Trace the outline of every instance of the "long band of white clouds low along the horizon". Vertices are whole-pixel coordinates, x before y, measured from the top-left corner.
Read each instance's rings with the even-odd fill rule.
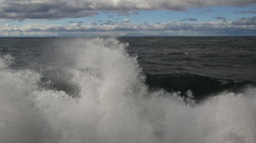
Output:
[[[131,35],[254,35],[256,25],[234,24],[227,22],[165,22],[154,24],[134,24],[105,22],[105,24],[83,24],[69,23],[62,24],[43,24],[28,23],[23,26],[0,26],[0,36],[11,35],[33,35],[33,36],[131,36]]]

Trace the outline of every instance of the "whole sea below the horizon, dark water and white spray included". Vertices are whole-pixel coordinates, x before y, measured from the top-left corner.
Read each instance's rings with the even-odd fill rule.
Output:
[[[0,38],[0,142],[256,142],[256,36]]]

